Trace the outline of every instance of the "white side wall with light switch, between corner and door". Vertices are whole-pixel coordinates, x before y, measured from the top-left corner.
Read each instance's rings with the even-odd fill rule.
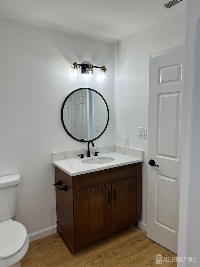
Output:
[[[150,26],[116,45],[115,143],[144,150],[142,170],[142,223],[147,222],[147,145],[138,138],[138,127],[148,127],[150,55],[185,43],[186,12]],[[130,26],[131,27],[131,26]],[[148,136],[148,131],[147,131]]]

